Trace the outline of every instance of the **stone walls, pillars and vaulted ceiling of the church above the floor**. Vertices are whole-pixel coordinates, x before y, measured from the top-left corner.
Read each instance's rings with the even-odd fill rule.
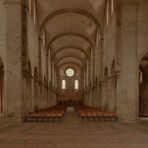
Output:
[[[0,121],[56,104],[148,117],[147,18],[147,0],[1,0]]]

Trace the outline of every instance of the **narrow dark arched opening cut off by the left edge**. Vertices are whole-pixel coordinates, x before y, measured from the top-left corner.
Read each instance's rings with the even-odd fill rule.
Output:
[[[4,113],[4,66],[0,59],[0,114]]]

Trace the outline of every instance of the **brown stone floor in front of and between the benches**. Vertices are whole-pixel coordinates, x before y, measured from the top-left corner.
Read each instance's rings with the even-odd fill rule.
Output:
[[[82,121],[69,110],[61,122],[1,126],[0,148],[148,148],[148,122]]]

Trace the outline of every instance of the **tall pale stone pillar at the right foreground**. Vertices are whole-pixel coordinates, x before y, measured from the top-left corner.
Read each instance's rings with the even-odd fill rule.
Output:
[[[120,88],[118,116],[123,122],[138,120],[137,1],[121,1]]]

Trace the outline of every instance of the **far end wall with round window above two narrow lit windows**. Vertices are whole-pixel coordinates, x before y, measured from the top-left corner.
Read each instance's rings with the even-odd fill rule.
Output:
[[[83,102],[83,82],[81,68],[75,64],[64,64],[58,70],[58,104],[74,106]]]

